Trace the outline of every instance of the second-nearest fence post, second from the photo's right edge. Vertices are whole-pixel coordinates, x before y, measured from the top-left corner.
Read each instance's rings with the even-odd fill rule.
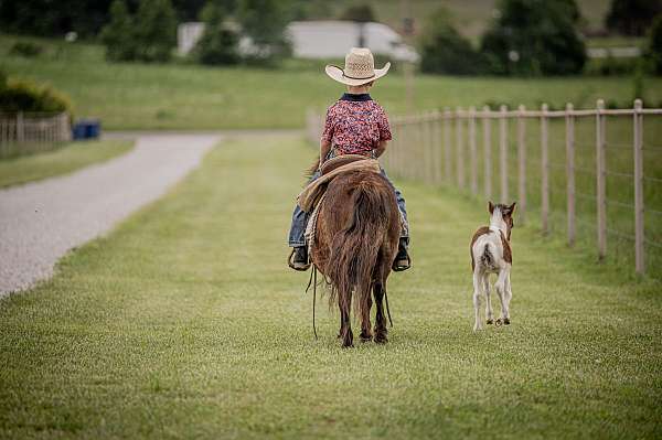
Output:
[[[598,217],[598,258],[601,260],[607,255],[607,185],[606,185],[606,158],[605,158],[605,101],[598,100],[596,114],[596,214]]]

